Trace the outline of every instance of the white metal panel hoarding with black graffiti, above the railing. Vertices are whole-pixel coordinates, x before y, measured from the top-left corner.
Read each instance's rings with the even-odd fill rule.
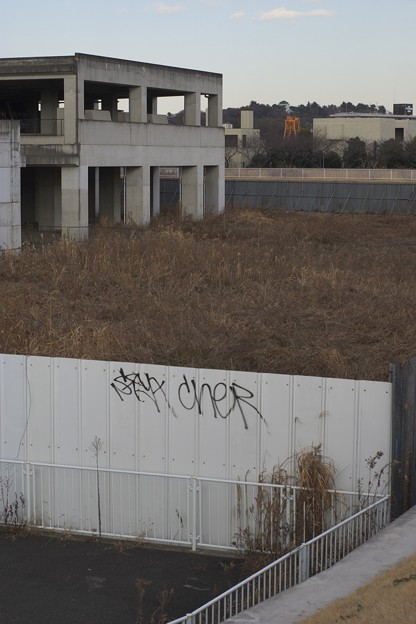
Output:
[[[322,444],[338,489],[390,460],[391,385],[2,355],[0,459],[255,481]],[[290,467],[290,462],[287,464]]]

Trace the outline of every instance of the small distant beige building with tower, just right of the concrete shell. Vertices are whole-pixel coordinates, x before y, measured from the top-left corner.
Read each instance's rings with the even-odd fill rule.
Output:
[[[258,148],[260,130],[254,128],[253,111],[241,111],[240,128],[225,128],[225,161],[227,167],[247,167]]]

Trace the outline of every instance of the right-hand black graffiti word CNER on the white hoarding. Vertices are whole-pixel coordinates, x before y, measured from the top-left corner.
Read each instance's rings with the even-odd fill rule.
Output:
[[[224,411],[222,402],[226,401],[229,392],[231,394],[230,406],[228,410]],[[214,418],[220,417],[226,419],[237,407],[241,418],[243,419],[244,429],[248,429],[246,418],[247,408],[254,411],[254,413],[263,419],[263,416],[257,407],[250,402],[250,399],[254,397],[254,394],[251,390],[248,390],[248,388],[244,388],[235,382],[229,386],[227,386],[224,382],[219,382],[214,387],[211,387],[210,384],[204,383],[198,390],[195,379],[191,379],[191,382],[189,383],[186,375],[183,376],[183,382],[178,388],[178,398],[184,409],[192,410],[195,406],[197,406],[198,414],[202,415],[202,401],[204,393],[208,395],[208,401],[210,402]]]

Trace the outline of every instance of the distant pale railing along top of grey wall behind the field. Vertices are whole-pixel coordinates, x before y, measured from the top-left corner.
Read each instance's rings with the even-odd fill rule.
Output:
[[[278,180],[360,180],[416,182],[416,169],[292,169],[292,168],[226,168],[226,179]]]

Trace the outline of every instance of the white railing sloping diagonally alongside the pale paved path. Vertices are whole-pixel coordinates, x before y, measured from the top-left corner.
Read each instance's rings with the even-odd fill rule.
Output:
[[[384,528],[389,497],[302,544],[217,598],[169,624],[220,624],[234,615],[327,570]]]

